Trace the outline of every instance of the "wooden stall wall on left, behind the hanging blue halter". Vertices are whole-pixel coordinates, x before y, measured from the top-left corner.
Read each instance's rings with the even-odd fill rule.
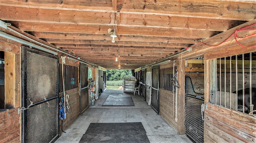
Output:
[[[61,62],[61,59],[59,61]],[[70,60],[67,60],[67,59],[66,59],[66,65],[71,65],[71,66],[78,67],[78,65],[75,65],[74,61],[70,61]],[[78,70],[78,72],[79,72],[79,70]],[[76,80],[78,80],[77,82],[78,82],[78,85],[79,85],[79,74],[78,74],[78,78]],[[62,133],[62,129],[63,129],[63,131],[65,131],[65,129],[67,129],[67,127],[70,124],[72,124],[75,121],[76,118],[78,118],[79,112],[80,112],[79,86],[77,88],[67,90],[67,91],[65,91],[65,93],[69,95],[68,104],[70,106],[70,109],[67,110],[66,119],[64,119],[64,120],[59,119],[60,133]],[[60,92],[60,95],[61,94],[62,94],[62,92]]]

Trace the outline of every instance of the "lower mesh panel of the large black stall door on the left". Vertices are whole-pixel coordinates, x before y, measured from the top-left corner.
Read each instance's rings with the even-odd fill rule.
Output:
[[[58,133],[57,98],[27,109],[27,142],[49,143]]]

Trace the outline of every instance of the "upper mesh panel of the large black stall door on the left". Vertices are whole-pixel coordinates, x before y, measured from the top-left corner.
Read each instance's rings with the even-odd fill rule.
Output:
[[[57,94],[58,70],[52,60],[36,53],[27,53],[27,99],[33,103],[52,98]],[[30,104],[29,100],[27,104]]]

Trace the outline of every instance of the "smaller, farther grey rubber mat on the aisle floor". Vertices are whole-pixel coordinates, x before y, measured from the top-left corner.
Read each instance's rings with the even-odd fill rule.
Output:
[[[134,106],[130,95],[109,95],[102,106]]]

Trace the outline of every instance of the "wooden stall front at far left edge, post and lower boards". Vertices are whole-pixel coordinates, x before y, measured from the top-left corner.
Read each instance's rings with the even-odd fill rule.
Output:
[[[0,110],[0,143],[20,142],[20,55],[16,54],[20,51],[16,45],[3,41],[0,50],[9,51],[5,52],[5,109]]]

